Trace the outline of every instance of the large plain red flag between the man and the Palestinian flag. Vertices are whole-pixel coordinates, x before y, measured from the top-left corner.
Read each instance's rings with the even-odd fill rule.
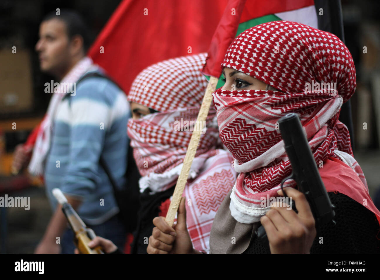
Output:
[[[128,93],[133,79],[145,67],[207,51],[227,2],[124,0],[98,35],[89,56]]]

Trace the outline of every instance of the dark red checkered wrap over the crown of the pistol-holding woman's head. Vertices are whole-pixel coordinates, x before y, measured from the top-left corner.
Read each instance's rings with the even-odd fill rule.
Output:
[[[289,94],[304,91],[312,80],[336,82],[345,102],[356,87],[355,65],[344,43],[329,32],[290,21],[245,30],[228,48],[222,67]]]

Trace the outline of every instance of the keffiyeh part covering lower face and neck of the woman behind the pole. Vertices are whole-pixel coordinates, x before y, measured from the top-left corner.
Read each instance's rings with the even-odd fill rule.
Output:
[[[140,191],[149,187],[152,192],[169,189],[177,181],[182,169],[192,131],[182,123],[195,122],[199,107],[182,108],[163,113],[146,115],[128,122],[133,155],[142,178]],[[217,123],[212,122],[215,109],[209,115],[199,146],[190,169],[190,178],[195,178],[204,161],[215,154],[218,138]]]

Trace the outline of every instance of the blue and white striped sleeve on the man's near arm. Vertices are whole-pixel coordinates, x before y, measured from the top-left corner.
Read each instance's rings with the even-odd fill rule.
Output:
[[[82,198],[93,192],[100,182],[97,171],[107,128],[115,115],[127,114],[123,112],[127,105],[115,109],[117,96],[121,95],[115,90],[119,92],[104,79],[89,78],[78,86],[76,96],[70,97],[70,163],[61,185],[62,192]]]

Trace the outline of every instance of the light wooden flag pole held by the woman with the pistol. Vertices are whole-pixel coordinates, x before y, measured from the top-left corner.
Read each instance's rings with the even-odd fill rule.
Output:
[[[211,94],[215,91],[217,82],[218,82],[218,78],[211,76],[206,88],[206,92],[204,93],[201,109],[199,109],[198,117],[196,118],[195,127],[197,129],[193,130],[193,134],[191,136],[189,146],[187,147],[187,152],[184,159],[184,165],[182,166],[181,173],[179,174],[177,184],[174,189],[173,199],[171,200],[168,214],[166,214],[165,220],[169,224],[169,226],[173,226],[174,218],[176,217],[178,206],[181,201],[182,194],[186,186],[187,178],[190,173],[190,167],[193,163],[196,149],[198,148],[199,139],[201,138],[203,124],[206,123],[205,121],[206,121],[207,115],[209,114],[211,101],[212,101]]]

